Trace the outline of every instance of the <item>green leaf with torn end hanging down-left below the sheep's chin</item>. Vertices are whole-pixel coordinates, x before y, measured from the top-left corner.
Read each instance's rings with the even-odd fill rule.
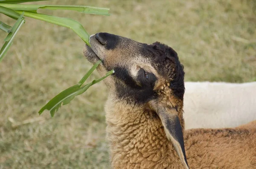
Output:
[[[92,82],[90,82],[87,85],[84,85],[82,87],[80,87],[79,84],[69,87],[68,89],[62,91],[57,96],[55,96],[53,99],[51,99],[44,107],[41,108],[41,110],[39,110],[38,113],[42,114],[44,110],[49,110],[51,116],[53,117],[55,112],[57,112],[62,105],[70,103],[70,101],[72,101],[75,98],[75,96],[81,95],[90,86],[102,81],[103,79],[105,79],[106,77],[110,76],[113,73],[114,73],[114,70],[111,70],[108,73],[106,73],[106,76],[104,76],[100,79],[97,79],[97,80],[93,80]]]

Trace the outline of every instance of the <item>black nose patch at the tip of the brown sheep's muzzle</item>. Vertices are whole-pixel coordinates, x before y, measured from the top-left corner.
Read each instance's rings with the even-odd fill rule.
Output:
[[[95,35],[96,39],[105,46],[107,50],[116,48],[119,43],[119,36],[101,32]]]

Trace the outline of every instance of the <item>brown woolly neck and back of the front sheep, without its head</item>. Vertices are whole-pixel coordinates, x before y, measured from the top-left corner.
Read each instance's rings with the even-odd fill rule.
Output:
[[[183,169],[163,124],[150,110],[106,104],[107,140],[114,169]],[[190,169],[256,169],[256,125],[184,132]]]

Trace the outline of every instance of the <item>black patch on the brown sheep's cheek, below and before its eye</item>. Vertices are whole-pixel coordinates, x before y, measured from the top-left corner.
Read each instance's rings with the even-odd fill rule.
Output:
[[[126,68],[116,67],[114,70],[115,73],[113,76],[125,84],[116,82],[116,92],[119,98],[126,99],[127,101],[133,101],[135,104],[145,103],[155,98],[156,93],[153,91],[153,87],[156,77],[154,74],[149,73],[152,80],[150,82],[146,82],[143,69],[141,69],[138,72],[136,79],[139,82],[138,83],[131,77]]]

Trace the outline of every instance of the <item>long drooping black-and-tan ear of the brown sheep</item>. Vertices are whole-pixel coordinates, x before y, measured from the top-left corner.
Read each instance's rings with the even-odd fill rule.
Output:
[[[185,168],[189,169],[186,160],[182,128],[177,111],[175,108],[159,107],[157,114],[162,121],[167,138],[172,142]]]

